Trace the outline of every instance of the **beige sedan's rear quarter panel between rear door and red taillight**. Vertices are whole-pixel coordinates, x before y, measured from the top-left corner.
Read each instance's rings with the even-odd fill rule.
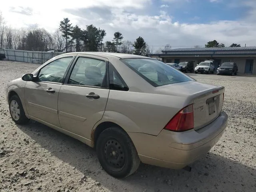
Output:
[[[186,103],[186,97],[110,90],[102,121],[126,132],[158,135]]]

